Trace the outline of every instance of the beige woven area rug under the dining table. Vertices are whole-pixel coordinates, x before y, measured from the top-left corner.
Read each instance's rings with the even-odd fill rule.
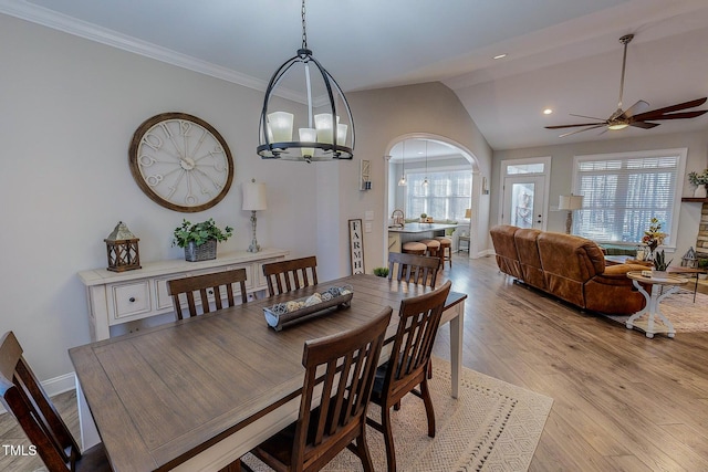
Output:
[[[525,471],[551,411],[553,399],[464,368],[458,399],[450,397],[450,365],[433,359],[429,381],[435,407],[436,437],[428,438],[423,400],[408,395],[392,411],[396,463],[399,471]],[[381,409],[369,408],[378,420]],[[368,428],[367,443],[375,471],[386,470],[383,436]],[[254,471],[270,471],[251,455]],[[361,471],[356,455],[344,450],[325,469]]]

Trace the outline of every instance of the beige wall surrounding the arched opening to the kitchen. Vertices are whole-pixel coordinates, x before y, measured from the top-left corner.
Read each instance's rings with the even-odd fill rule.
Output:
[[[388,199],[385,188],[388,182],[388,161],[385,154],[396,137],[421,134],[438,135],[459,143],[473,154],[481,175],[491,174],[491,148],[479,133],[457,95],[441,83],[426,83],[392,88],[378,88],[347,94],[352,114],[356,123],[356,150],[354,166],[340,168],[340,199],[342,206],[340,228],[346,228],[347,219],[364,220],[366,211],[373,211],[372,231],[364,234],[366,272],[384,264],[386,249],[386,227]],[[369,159],[372,165],[372,190],[358,190],[358,166],[361,159]],[[488,216],[489,196],[481,196],[480,213]],[[489,232],[487,219],[478,222],[479,234]],[[364,221],[366,222],[366,221]],[[487,250],[487,241],[482,250]],[[344,272],[350,270],[348,253]],[[344,260],[344,259],[343,259]],[[343,272],[343,273],[344,273]]]

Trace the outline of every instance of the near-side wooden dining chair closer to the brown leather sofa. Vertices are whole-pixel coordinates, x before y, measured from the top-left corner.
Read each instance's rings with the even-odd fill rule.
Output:
[[[381,422],[366,422],[384,434],[388,471],[396,470],[396,452],[391,428],[391,408],[400,408],[400,399],[414,394],[423,399],[428,420],[428,436],[435,438],[435,410],[428,389],[428,368],[433,343],[440,324],[445,300],[450,292],[447,281],[434,292],[404,298],[398,310],[398,329],[391,357],[376,369],[372,402],[381,406]],[[420,386],[418,391],[416,387]]]

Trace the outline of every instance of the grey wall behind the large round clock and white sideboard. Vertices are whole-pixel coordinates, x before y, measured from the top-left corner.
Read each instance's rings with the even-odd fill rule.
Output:
[[[118,221],[139,238],[142,262],[184,258],[170,247],[183,218],[233,227],[235,237],[218,251],[246,250],[251,224],[241,210],[241,183],[256,178],[268,186],[259,243],[292,256],[317,251],[316,221],[302,218],[303,209],[316,208],[313,167],[256,154],[262,92],[3,14],[0,43],[0,329],[15,332],[40,379],[73,371],[66,350],[91,340],[76,274],[106,266],[103,240]],[[133,133],[164,112],[196,115],[228,143],[236,172],[216,207],[175,212],[133,180]]]

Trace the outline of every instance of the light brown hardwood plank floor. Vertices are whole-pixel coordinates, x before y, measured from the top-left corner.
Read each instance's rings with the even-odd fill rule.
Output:
[[[530,471],[708,470],[708,333],[648,339],[512,283],[493,258],[455,254],[448,277],[469,295],[465,366],[554,400]],[[449,358],[447,327],[435,353]],[[75,431],[74,397],[59,402]],[[2,443],[14,424],[0,417]],[[0,470],[37,464],[0,451]]]

